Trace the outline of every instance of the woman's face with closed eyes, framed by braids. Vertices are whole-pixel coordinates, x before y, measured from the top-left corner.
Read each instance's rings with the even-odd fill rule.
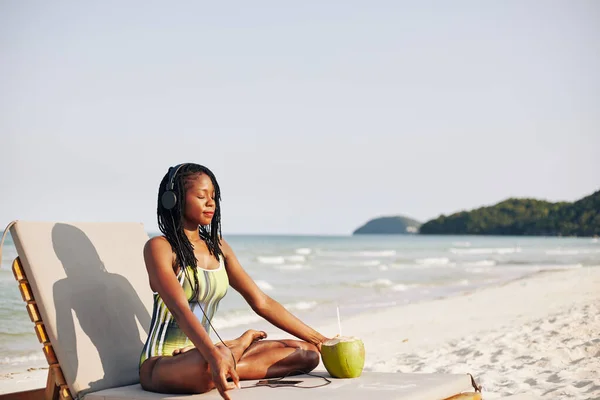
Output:
[[[215,188],[206,174],[188,180],[185,191],[184,218],[198,225],[209,225],[215,214]]]

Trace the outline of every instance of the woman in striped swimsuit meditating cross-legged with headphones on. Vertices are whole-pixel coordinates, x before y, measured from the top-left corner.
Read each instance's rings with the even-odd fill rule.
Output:
[[[244,379],[309,372],[319,363],[323,335],[264,294],[221,238],[220,190],[213,173],[197,164],[169,169],[158,193],[163,236],[144,247],[154,310],[140,359],[140,383],[161,393],[227,390]],[[302,340],[263,340],[249,330],[213,345],[210,320],[228,286],[273,325]],[[201,307],[204,317],[196,317]],[[228,378],[232,382],[228,381]]]

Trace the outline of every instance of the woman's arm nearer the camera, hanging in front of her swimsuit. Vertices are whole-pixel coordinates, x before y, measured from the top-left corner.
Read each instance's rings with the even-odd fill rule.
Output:
[[[210,336],[190,309],[183,288],[173,273],[173,250],[169,242],[164,237],[150,239],[144,246],[144,261],[150,287],[158,292],[183,333],[210,365],[213,381],[221,396],[229,399],[225,391],[232,387],[227,382],[227,376],[239,386],[235,366],[232,359],[223,357],[212,344]]]

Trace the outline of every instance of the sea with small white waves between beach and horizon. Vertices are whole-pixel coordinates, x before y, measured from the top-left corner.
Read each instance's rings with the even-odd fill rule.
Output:
[[[598,238],[225,238],[244,269],[270,297],[311,326],[336,321],[339,314],[342,329],[345,318],[360,313],[461,295],[544,271],[600,267]],[[16,256],[8,236],[0,268],[0,371],[45,363],[11,271]],[[237,337],[249,328],[269,327],[232,288],[221,301],[213,325],[223,339]]]

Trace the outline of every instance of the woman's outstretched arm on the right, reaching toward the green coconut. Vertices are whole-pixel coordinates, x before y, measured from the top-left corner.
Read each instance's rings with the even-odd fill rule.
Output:
[[[312,343],[321,349],[321,343],[327,338],[300,321],[285,307],[267,296],[248,273],[242,268],[233,250],[225,240],[221,240],[221,249],[225,255],[225,266],[229,283],[246,299],[250,307],[261,317],[276,327]]]

